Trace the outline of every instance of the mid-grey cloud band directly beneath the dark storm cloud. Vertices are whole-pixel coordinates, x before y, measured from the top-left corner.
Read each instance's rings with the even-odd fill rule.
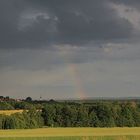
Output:
[[[94,46],[94,47],[92,47]],[[139,42],[106,43],[86,46],[56,46],[48,49],[3,50],[0,52],[0,71],[47,70],[69,64],[82,64],[106,60],[111,63],[134,63],[140,60]]]

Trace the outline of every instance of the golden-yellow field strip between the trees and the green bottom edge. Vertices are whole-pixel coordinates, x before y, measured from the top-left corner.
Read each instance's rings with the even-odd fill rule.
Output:
[[[140,136],[140,128],[40,128],[0,130],[0,137]]]

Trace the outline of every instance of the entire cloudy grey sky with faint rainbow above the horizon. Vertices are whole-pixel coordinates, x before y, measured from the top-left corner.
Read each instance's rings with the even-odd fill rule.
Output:
[[[140,97],[140,1],[0,0],[0,95]]]

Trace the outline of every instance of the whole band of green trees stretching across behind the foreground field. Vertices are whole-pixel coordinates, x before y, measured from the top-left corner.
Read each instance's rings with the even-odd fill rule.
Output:
[[[0,115],[0,129],[140,126],[140,103],[134,101],[0,102],[0,109],[6,108],[28,110],[10,116]]]

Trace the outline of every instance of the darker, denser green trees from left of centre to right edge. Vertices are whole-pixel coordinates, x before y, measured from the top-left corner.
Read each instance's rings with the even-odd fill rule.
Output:
[[[42,117],[56,127],[139,127],[140,108],[132,103],[94,105],[46,105]]]

